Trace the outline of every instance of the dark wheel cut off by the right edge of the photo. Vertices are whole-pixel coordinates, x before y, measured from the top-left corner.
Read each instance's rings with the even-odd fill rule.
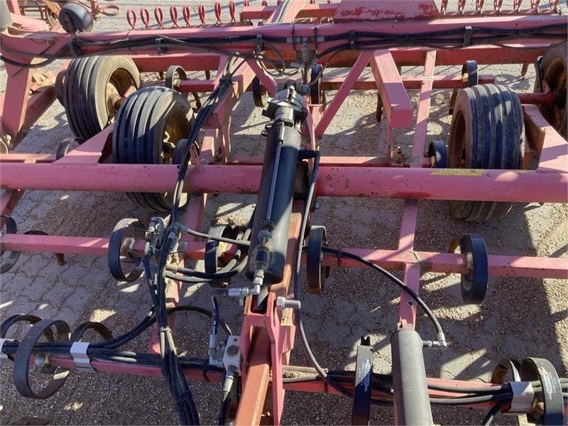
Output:
[[[539,105],[542,116],[565,139],[568,140],[568,43],[552,46],[540,60],[540,87],[535,91],[543,91],[543,83],[547,91],[559,95],[555,104]]]

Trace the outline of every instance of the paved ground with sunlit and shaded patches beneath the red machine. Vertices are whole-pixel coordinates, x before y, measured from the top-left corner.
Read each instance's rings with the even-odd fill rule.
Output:
[[[116,1],[129,6],[154,6],[157,1]],[[197,2],[190,2],[191,4]],[[212,9],[211,4],[208,9]],[[512,1],[506,1],[512,3]],[[170,1],[168,4],[184,4]],[[470,5],[471,6],[471,5]],[[225,14],[226,11],[224,12]],[[121,17],[104,18],[97,28],[126,28]],[[532,90],[534,73],[519,79],[520,66],[481,67],[483,74],[496,75],[499,83],[516,90]],[[403,72],[420,72],[405,67]],[[437,72],[459,72],[438,67]],[[151,76],[150,76],[151,77]],[[4,90],[6,74],[0,73]],[[333,94],[333,93],[332,93]],[[329,94],[328,99],[332,96]],[[417,92],[410,92],[413,102]],[[428,139],[447,138],[449,91],[432,97]],[[386,126],[374,121],[376,94],[353,92],[342,105],[322,139],[323,155],[384,155]],[[235,109],[231,124],[232,145],[237,153],[260,153],[266,124],[247,94]],[[31,128],[16,152],[54,153],[58,143],[72,136],[65,111],[57,102]],[[410,152],[413,131],[398,131],[395,140]],[[379,143],[377,143],[379,142]],[[251,211],[253,197],[219,195],[209,197],[203,228],[227,215],[234,220]],[[312,223],[327,226],[332,246],[361,246],[395,249],[403,208],[401,200],[323,199]],[[141,211],[121,194],[79,192],[26,192],[13,213],[18,229],[42,229],[56,235],[105,236],[123,217],[139,217]],[[420,202],[416,249],[446,251],[449,241],[466,233],[484,234],[490,253],[525,256],[567,256],[568,207],[564,204],[518,205],[501,221],[465,224],[449,215],[445,202]],[[43,318],[65,320],[75,326],[86,320],[102,321],[114,334],[130,329],[148,311],[149,298],[141,280],[116,283],[107,271],[105,258],[67,256],[58,266],[52,256],[24,253],[18,265],[1,277],[0,320],[16,313],[35,313]],[[320,363],[329,368],[354,368],[356,345],[370,335],[375,349],[374,370],[391,369],[388,344],[395,328],[398,291],[383,285],[371,271],[333,269],[323,296],[304,295],[307,333]],[[568,375],[568,297],[566,280],[492,278],[484,304],[461,305],[459,276],[427,273],[421,294],[442,322],[449,340],[444,352],[427,351],[429,376],[488,381],[503,358],[539,356],[552,361],[560,375]],[[207,291],[199,286],[184,288],[184,303],[208,307]],[[224,302],[224,317],[238,329],[238,306]],[[419,318],[418,331],[430,336],[430,324]],[[188,355],[204,356],[208,324],[201,318],[180,316],[176,337]],[[133,342],[130,349],[143,351],[148,336]],[[300,342],[293,351],[293,364],[308,365]],[[72,373],[65,386],[48,400],[28,400],[11,383],[11,367],[2,365],[1,424],[11,424],[26,415],[46,417],[52,424],[173,424],[177,416],[162,378],[111,374]],[[192,383],[202,422],[217,418],[219,385]],[[344,424],[350,422],[349,400],[330,395],[287,393],[285,424]],[[454,408],[435,409],[435,422],[444,425],[479,423],[483,413]],[[499,424],[513,419],[502,417]],[[373,408],[373,424],[391,424],[391,408]]]

